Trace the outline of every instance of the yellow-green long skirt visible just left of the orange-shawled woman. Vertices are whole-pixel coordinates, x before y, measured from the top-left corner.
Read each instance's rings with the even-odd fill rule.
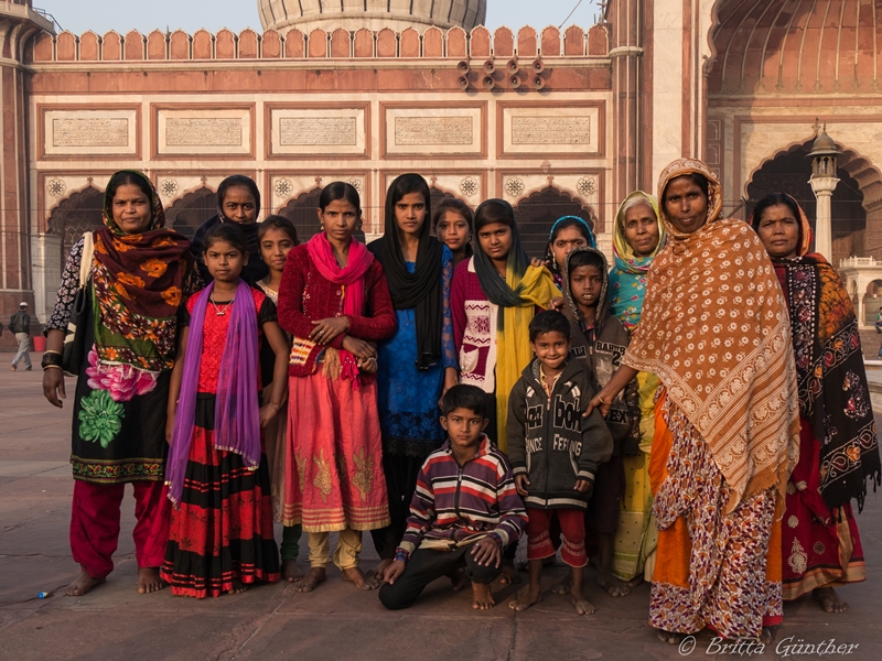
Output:
[[[613,545],[613,574],[631,581],[644,574],[653,578],[658,529],[653,519],[653,491],[649,488],[649,456],[655,435],[655,394],[658,378],[648,372],[637,375],[641,404],[641,452],[623,457],[625,495],[619,512],[619,528]],[[645,573],[644,573],[645,571]]]

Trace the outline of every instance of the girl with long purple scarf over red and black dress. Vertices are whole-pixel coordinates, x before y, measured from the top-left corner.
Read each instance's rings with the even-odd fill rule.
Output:
[[[205,247],[214,281],[187,304],[169,397],[174,510],[161,571],[173,594],[197,598],[279,579],[261,427],[279,413],[288,387],[288,343],[276,305],[240,279],[248,261],[241,230],[212,228]],[[263,407],[261,335],[276,354]]]

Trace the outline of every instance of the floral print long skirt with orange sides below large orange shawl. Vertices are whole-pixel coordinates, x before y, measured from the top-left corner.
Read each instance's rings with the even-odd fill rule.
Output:
[[[656,412],[649,474],[659,533],[649,624],[757,638],[783,620],[775,488],[727,512],[732,488],[707,442],[664,394]]]

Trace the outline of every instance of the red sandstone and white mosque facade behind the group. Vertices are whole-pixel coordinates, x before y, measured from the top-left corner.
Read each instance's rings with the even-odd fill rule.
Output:
[[[418,172],[433,201],[510,202],[534,254],[567,214],[609,251],[619,202],[680,156],[716,170],[727,215],[783,189],[814,218],[825,124],[841,152],[830,258],[857,269],[856,306],[879,308],[882,0],[607,0],[594,25],[493,32],[485,0],[258,10],[261,32],[75,35],[0,0],[0,318],[23,300],[46,319],[120,169],[147,172],[186,235],[244,173],[261,217],[301,239],[322,186],[351,182],[370,238],[388,183]]]

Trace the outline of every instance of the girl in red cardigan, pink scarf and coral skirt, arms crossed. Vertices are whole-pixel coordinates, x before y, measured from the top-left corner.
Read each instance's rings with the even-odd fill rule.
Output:
[[[395,310],[383,267],[353,238],[358,193],[334,182],[319,204],[324,231],[288,253],[279,288],[279,324],[293,335],[282,517],[309,533],[300,592],[325,579],[331,531],[344,581],[373,589],[358,568],[362,531],[388,525],[389,505],[370,343],[392,336]]]

